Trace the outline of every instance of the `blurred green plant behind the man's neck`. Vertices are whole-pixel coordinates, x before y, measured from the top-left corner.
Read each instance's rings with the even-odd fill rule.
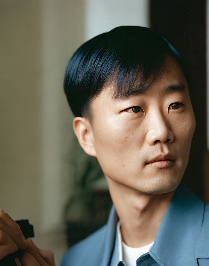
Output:
[[[96,159],[87,155],[75,137],[69,154],[70,177],[73,179],[73,194],[64,207],[67,221],[89,222],[95,215],[95,195],[93,184],[99,178],[105,178]]]

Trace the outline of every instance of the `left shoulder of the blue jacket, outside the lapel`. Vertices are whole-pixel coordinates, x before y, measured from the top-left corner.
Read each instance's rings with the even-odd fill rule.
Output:
[[[61,266],[100,265],[107,225],[73,245],[64,254]],[[95,256],[94,256],[95,254]]]

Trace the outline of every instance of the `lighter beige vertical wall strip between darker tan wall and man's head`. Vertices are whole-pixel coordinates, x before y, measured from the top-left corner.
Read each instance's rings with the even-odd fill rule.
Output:
[[[82,0],[42,1],[42,207],[47,213],[43,216],[43,230],[61,223],[71,188],[70,146],[75,137],[63,78],[70,56],[84,41],[83,13]]]

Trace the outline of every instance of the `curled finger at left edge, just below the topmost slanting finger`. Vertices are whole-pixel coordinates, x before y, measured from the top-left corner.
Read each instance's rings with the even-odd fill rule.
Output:
[[[14,241],[4,231],[0,231],[0,259],[18,250]]]

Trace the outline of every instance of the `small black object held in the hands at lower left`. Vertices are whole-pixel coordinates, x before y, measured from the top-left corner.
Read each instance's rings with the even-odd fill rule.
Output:
[[[34,237],[33,226],[29,224],[28,220],[19,220],[16,221],[16,223],[20,226],[20,229],[26,239]],[[7,255],[0,260],[0,266],[16,266],[15,258],[20,258],[22,252],[22,249],[18,249],[14,253]]]

